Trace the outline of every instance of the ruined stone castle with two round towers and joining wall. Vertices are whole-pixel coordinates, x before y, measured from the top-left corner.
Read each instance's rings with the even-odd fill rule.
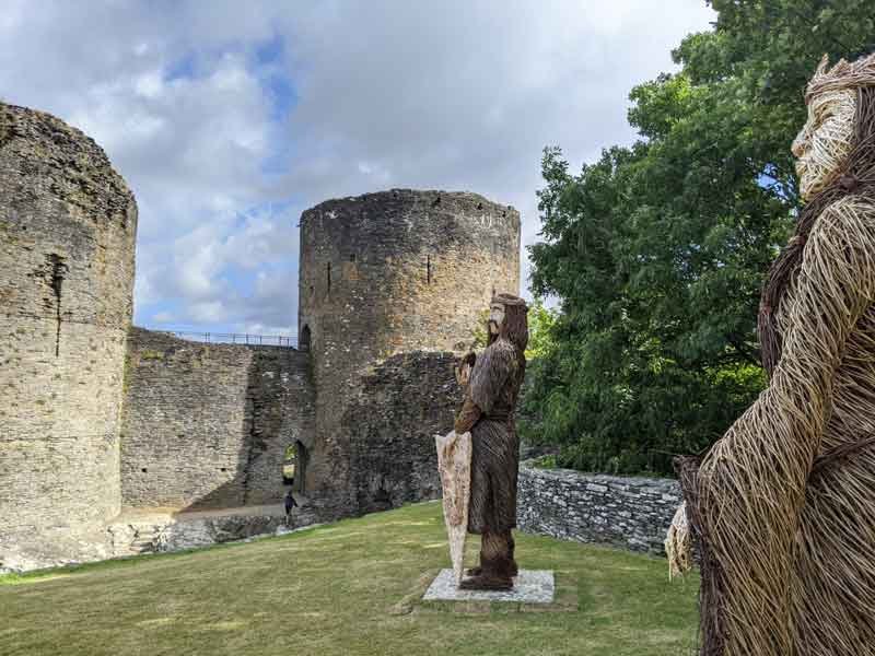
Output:
[[[440,495],[455,356],[518,292],[513,208],[397,189],[305,211],[298,349],[133,327],[136,232],[94,141],[0,103],[0,567],[136,552],[149,513],[277,515],[290,447],[305,520]]]

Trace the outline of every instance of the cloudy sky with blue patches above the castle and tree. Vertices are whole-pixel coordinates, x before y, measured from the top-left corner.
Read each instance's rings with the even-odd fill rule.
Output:
[[[630,87],[712,20],[704,0],[2,0],[0,98],[84,130],[133,189],[136,324],[293,335],[302,210],[466,189],[530,244],[541,149],[576,168],[631,142]]]

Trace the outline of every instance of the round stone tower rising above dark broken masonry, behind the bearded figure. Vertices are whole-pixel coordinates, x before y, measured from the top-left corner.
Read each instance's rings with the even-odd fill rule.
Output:
[[[340,514],[355,512],[340,492],[354,465],[339,421],[357,380],[397,353],[470,347],[492,294],[518,294],[520,213],[469,192],[328,200],[301,216],[299,280],[299,336],[316,387],[305,485],[337,496]]]

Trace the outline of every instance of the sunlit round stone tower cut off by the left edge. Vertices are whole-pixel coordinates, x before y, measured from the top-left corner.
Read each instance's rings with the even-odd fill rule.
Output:
[[[0,549],[69,555],[119,512],[136,232],[94,141],[0,103]]]

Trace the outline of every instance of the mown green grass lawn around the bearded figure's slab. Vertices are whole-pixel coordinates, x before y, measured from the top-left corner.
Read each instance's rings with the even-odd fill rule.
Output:
[[[470,540],[468,561],[476,560]],[[0,654],[690,654],[698,578],[665,561],[518,534],[553,570],[539,612],[419,600],[448,566],[439,503],[244,544],[0,577]]]

